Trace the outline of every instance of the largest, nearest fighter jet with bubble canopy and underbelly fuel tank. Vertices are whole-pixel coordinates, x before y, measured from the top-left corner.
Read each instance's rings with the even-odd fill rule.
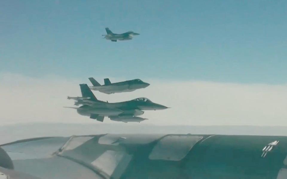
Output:
[[[80,84],[82,97],[68,97],[68,99],[76,100],[75,105],[80,107],[68,107],[77,109],[80,115],[89,116],[91,119],[103,122],[107,116],[113,121],[122,122],[141,122],[145,118],[137,117],[144,114],[143,110],[160,110],[167,109],[160,104],[153,103],[147,98],[136,98],[131,101],[119,103],[108,103],[98,100],[91,92],[87,84]]]

